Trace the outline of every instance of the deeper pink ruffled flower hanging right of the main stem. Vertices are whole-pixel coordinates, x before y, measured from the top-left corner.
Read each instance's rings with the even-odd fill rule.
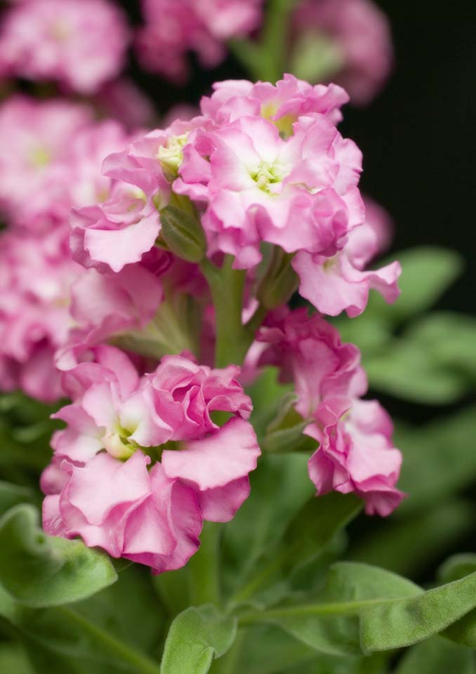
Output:
[[[269,344],[262,364],[294,381],[296,411],[309,421],[305,435],[319,447],[309,460],[317,494],[353,491],[369,515],[389,515],[403,498],[395,484],[402,455],[392,444],[392,422],[375,400],[362,400],[367,383],[360,353],[338,331],[305,310],[275,312],[258,340]]]

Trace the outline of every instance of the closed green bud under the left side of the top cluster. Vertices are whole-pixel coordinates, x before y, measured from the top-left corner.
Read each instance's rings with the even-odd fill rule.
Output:
[[[206,238],[200,220],[176,206],[160,211],[161,238],[169,251],[182,260],[198,263],[206,254]]]

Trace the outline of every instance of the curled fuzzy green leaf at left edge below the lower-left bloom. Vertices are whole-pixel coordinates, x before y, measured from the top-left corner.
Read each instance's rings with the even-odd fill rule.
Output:
[[[1,518],[0,550],[0,581],[27,606],[77,602],[117,580],[104,553],[46,536],[31,505],[16,505]]]

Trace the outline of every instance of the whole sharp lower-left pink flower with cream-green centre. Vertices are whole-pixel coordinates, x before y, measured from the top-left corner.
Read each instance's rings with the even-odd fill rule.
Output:
[[[44,527],[156,573],[178,569],[203,520],[227,522],[249,495],[260,450],[239,369],[168,356],[139,377],[113,347],[92,357],[65,374],[73,402],[55,415],[68,426],[42,477]],[[231,416],[221,427],[220,411]]]

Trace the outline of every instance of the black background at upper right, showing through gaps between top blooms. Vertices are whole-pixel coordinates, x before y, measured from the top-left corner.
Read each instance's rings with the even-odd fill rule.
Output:
[[[138,2],[122,4],[140,22]],[[476,2],[378,4],[392,25],[395,70],[369,107],[347,107],[341,131],[364,152],[363,191],[395,219],[393,250],[437,244],[461,251],[465,275],[439,307],[474,312]],[[134,65],[132,72],[161,112],[183,100],[196,104],[213,81],[248,77],[232,58],[211,72],[194,67],[185,88]]]

